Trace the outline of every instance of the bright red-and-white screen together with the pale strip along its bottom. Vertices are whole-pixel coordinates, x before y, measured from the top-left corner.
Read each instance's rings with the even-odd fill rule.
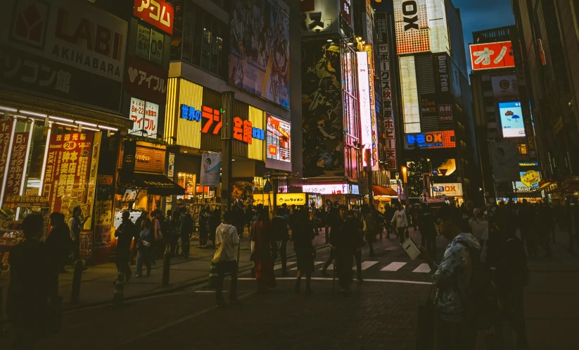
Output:
[[[291,122],[267,114],[265,167],[291,171]]]

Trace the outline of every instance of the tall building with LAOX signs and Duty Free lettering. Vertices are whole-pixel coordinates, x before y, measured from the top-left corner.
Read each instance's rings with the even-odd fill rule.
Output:
[[[480,201],[460,12],[443,0],[394,0],[393,6],[400,165],[407,165],[409,195]]]

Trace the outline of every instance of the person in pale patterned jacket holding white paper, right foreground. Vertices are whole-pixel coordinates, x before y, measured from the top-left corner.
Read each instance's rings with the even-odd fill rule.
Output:
[[[444,350],[475,349],[477,327],[472,320],[481,316],[481,309],[473,305],[485,304],[477,290],[481,285],[477,268],[481,265],[481,246],[476,237],[463,232],[462,220],[457,208],[443,206],[438,210],[440,232],[451,241],[440,263],[435,263],[424,246],[420,247],[420,257],[434,271],[436,339],[438,349]]]

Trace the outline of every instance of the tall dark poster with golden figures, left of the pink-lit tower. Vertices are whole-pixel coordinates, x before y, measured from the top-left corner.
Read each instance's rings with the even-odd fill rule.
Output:
[[[302,60],[303,176],[344,175],[340,48],[305,42]]]

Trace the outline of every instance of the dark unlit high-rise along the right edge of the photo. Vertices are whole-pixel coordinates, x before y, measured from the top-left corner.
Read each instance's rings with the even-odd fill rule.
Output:
[[[545,194],[573,196],[579,189],[577,1],[512,1],[525,92],[537,132]],[[520,85],[520,83],[519,83]]]

